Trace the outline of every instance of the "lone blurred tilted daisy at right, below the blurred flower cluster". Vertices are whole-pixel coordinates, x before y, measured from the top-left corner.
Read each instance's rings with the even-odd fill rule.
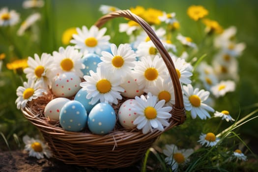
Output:
[[[235,90],[235,83],[233,81],[221,81],[219,84],[212,86],[211,91],[215,97],[224,96],[227,92]]]

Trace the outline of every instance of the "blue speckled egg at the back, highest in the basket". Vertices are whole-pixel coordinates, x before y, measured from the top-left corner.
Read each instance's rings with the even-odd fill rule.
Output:
[[[96,72],[96,69],[98,67],[98,63],[100,63],[102,60],[100,57],[96,54],[89,53],[86,54],[83,58],[82,61],[85,65],[84,69],[81,69],[84,75],[89,75],[89,71],[92,70]]]

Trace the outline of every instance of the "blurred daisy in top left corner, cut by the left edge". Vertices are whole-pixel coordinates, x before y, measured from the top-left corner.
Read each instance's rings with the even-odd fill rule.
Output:
[[[20,14],[15,10],[8,10],[7,7],[0,9],[0,26],[13,26],[20,20]]]

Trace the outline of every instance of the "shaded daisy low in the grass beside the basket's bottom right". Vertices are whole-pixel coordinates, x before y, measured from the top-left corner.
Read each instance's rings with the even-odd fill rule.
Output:
[[[166,144],[163,153],[167,156],[165,161],[171,165],[175,162],[177,165],[183,164],[187,161],[187,158],[194,152],[194,149],[181,149],[179,150],[174,144]]]

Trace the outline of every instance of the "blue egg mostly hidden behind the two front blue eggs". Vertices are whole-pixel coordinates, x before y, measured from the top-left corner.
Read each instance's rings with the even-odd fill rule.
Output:
[[[99,103],[99,101],[95,104],[90,104],[90,101],[91,99],[87,99],[86,96],[87,96],[88,92],[86,89],[84,88],[81,88],[75,95],[74,97],[74,100],[82,103],[85,107],[85,110],[87,112],[87,114],[91,111],[91,109],[97,104]]]

